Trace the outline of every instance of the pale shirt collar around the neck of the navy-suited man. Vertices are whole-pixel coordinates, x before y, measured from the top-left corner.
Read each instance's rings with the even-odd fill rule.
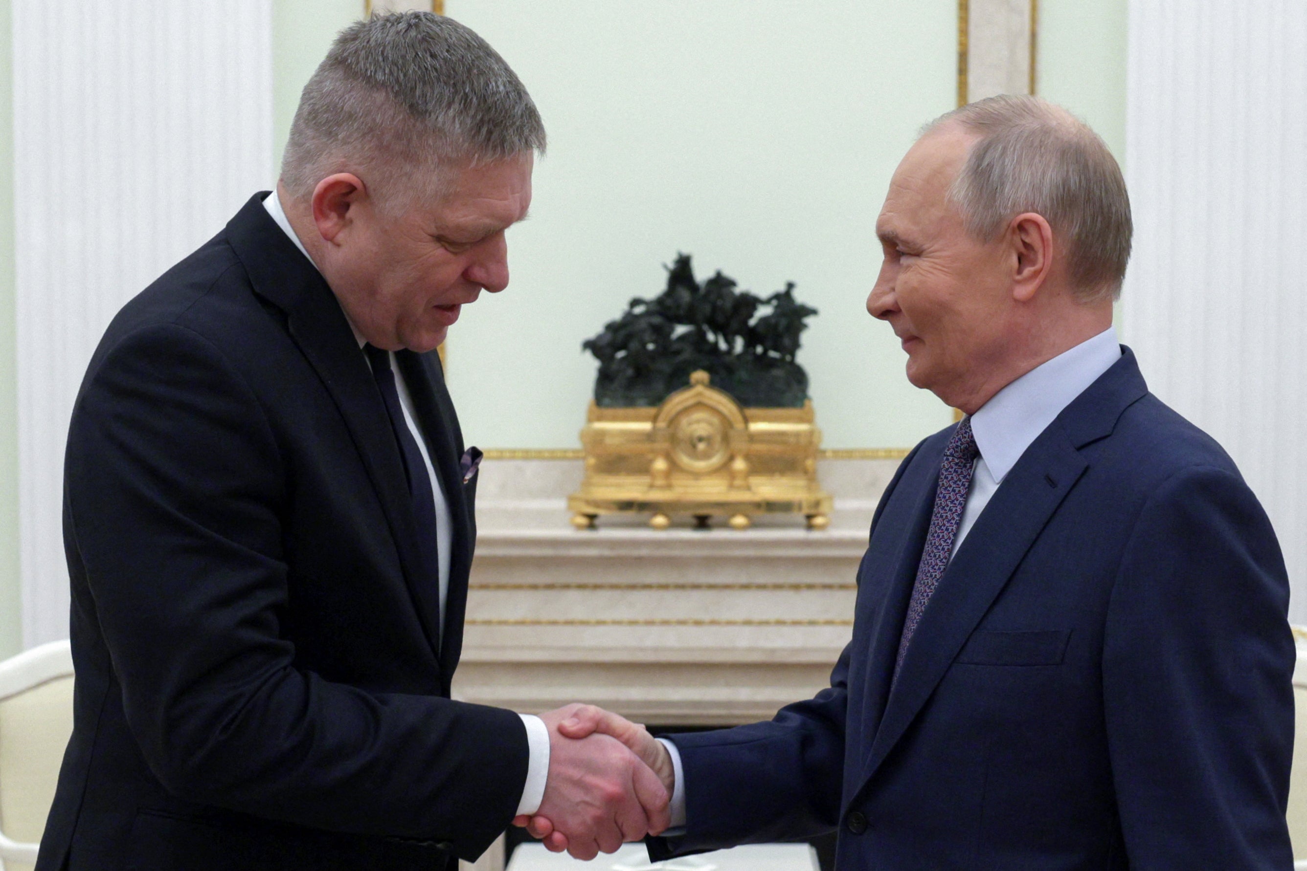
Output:
[[[993,479],[1001,483],[1053,418],[1120,356],[1116,330],[1110,326],[1030,370],[972,414],[971,432]]]

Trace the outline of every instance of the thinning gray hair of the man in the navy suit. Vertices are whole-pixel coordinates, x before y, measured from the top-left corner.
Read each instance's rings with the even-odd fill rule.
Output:
[[[1046,99],[1006,94],[955,108],[923,136],[950,124],[980,136],[949,191],[967,232],[989,242],[1018,214],[1040,214],[1067,244],[1076,296],[1119,299],[1134,226],[1121,168],[1098,133]]]

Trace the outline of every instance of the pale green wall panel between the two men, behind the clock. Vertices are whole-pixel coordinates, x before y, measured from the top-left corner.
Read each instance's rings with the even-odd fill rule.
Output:
[[[549,129],[511,287],[450,332],[469,441],[578,447],[584,338],[663,264],[695,257],[821,311],[804,334],[825,445],[911,445],[950,411],[865,311],[876,215],[916,129],[953,107],[955,0],[447,0],[521,76]]]

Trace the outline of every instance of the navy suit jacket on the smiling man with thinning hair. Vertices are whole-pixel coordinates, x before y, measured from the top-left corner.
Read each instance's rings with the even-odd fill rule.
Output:
[[[951,427],[886,490],[829,689],[676,735],[651,854],[839,829],[840,871],[1287,870],[1289,585],[1265,513],[1123,356],[1031,444],[890,689]]]

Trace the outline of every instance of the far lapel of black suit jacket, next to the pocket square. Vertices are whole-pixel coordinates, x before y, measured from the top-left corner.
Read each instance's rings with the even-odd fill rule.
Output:
[[[467,494],[463,484],[463,470],[459,460],[463,456],[463,437],[459,432],[454,402],[444,388],[444,373],[440,371],[439,356],[399,351],[395,355],[400,372],[408,384],[413,400],[413,411],[418,418],[422,437],[426,439],[431,465],[440,477],[444,500],[450,511],[451,552],[450,586],[444,599],[444,632],[440,645],[440,662],[447,676],[452,676],[463,648],[463,619],[467,611],[468,576],[472,569],[472,521]]]

